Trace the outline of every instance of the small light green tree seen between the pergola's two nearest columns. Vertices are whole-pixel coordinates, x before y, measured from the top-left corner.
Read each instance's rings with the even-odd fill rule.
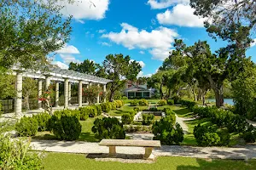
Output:
[[[29,98],[36,97],[38,94],[38,82],[32,78],[25,77],[24,82],[22,83],[22,95],[25,99],[26,110],[30,110],[29,107]]]

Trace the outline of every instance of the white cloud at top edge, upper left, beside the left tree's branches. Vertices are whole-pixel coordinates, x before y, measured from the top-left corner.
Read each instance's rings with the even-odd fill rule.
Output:
[[[102,20],[108,10],[109,0],[75,0],[74,3],[61,3],[65,7],[61,13],[73,15],[75,20]]]

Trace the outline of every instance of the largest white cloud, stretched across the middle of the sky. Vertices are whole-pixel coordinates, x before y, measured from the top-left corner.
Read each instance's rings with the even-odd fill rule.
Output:
[[[150,32],[145,30],[139,31],[137,27],[126,23],[122,23],[121,26],[122,30],[120,32],[109,32],[108,34],[103,34],[102,37],[121,44],[125,48],[148,49],[149,53],[153,54],[154,59],[166,59],[168,52],[172,48],[174,38],[178,37],[176,31],[163,26]],[[160,51],[162,52],[161,54],[164,54],[163,56],[160,56]]]

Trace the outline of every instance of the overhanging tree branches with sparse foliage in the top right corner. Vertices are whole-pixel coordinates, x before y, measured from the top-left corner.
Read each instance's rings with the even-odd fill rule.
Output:
[[[196,15],[208,18],[207,31],[213,27],[218,28],[215,33],[224,33],[234,24],[250,30],[256,27],[254,0],[190,0],[190,6],[195,8]]]

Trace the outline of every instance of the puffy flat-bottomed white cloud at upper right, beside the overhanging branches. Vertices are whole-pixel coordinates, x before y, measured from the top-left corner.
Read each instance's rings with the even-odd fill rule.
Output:
[[[194,8],[189,5],[177,4],[177,6],[169,9],[165,13],[157,14],[157,20],[163,25],[177,25],[177,26],[189,26],[189,27],[203,27],[204,20],[199,16],[193,14]]]

